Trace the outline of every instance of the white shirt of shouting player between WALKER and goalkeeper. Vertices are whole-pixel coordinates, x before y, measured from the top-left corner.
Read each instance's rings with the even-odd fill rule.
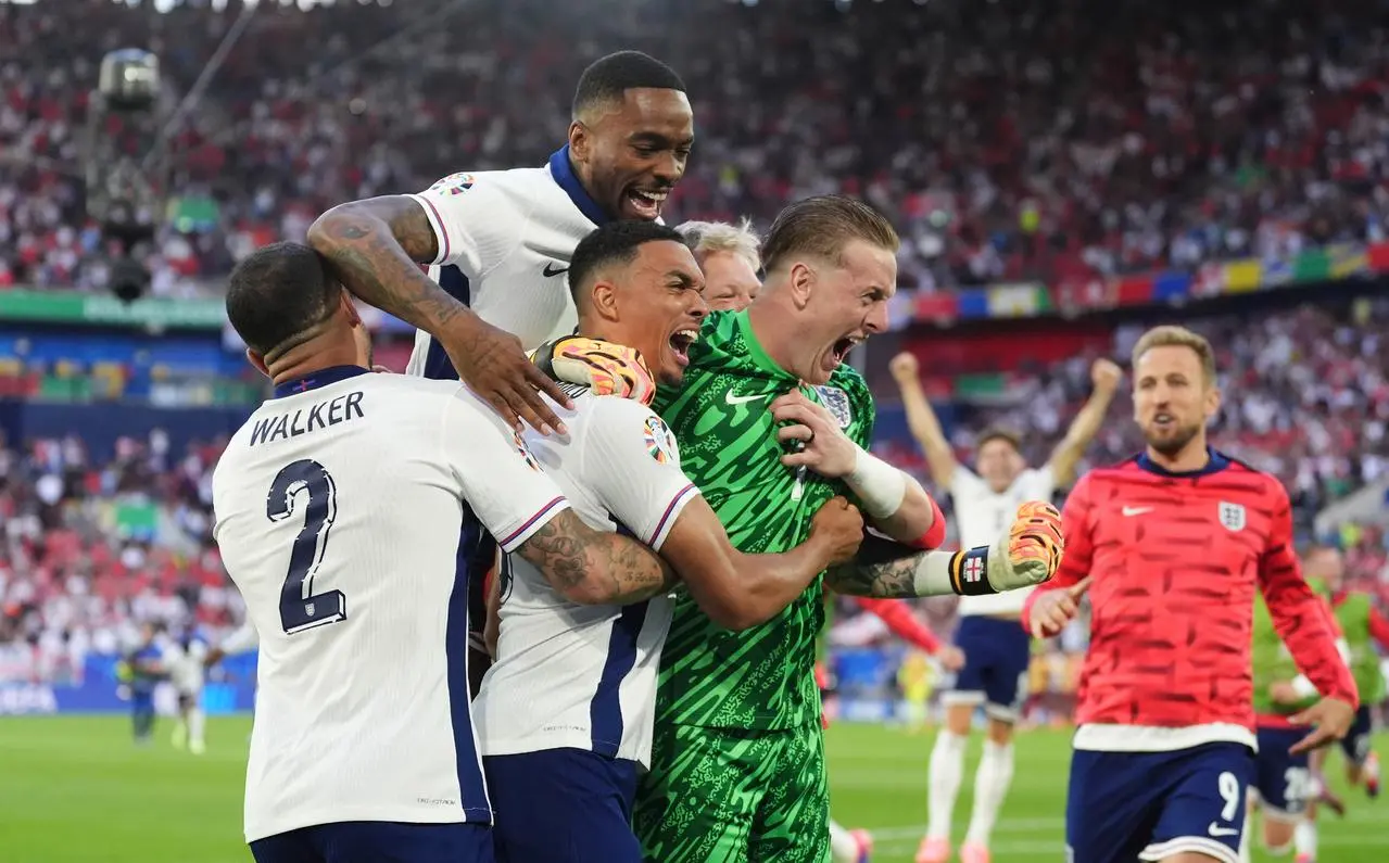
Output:
[[[569,391],[574,411],[551,405],[568,437],[529,432],[526,444],[585,523],[660,551],[699,494],[681,472],[675,436],[638,401]],[[497,656],[474,705],[482,753],[563,746],[649,766],[669,599],[575,605],[526,561],[508,563]]]

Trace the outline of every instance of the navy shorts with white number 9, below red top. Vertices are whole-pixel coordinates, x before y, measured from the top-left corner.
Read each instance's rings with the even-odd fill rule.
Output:
[[[1070,863],[1163,860],[1183,851],[1239,863],[1254,753],[1240,744],[1071,758]]]

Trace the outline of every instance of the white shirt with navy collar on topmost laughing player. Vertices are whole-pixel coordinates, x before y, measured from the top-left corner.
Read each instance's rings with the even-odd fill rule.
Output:
[[[526,351],[574,332],[565,272],[574,247],[608,221],[563,147],[542,168],[451,173],[419,194],[439,257],[429,276]],[[407,375],[457,379],[429,333],[415,333]]]

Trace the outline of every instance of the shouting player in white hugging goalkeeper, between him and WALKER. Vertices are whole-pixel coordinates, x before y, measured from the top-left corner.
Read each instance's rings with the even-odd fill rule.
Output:
[[[707,307],[678,233],[651,222],[604,225],[575,248],[569,283],[579,336],[636,348],[657,380],[681,383]],[[863,519],[840,498],[786,554],[735,551],[646,404],[583,387],[572,395],[575,409],[560,409],[568,437],[529,433],[532,452],[575,512],[601,530],[621,524],[660,551],[721,626],[770,619],[858,549]],[[579,606],[524,559],[501,590],[496,663],[475,703],[499,860],[640,863],[632,801],[639,770],[650,766],[669,599]]]

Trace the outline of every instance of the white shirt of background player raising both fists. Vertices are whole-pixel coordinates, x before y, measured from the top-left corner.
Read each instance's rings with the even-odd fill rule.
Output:
[[[956,465],[950,477],[950,499],[960,530],[960,548],[993,545],[999,534],[1013,524],[1024,501],[1050,501],[1056,491],[1051,466],[1028,468],[1001,493],[989,488],[978,473]],[[988,597],[960,597],[960,615],[996,615],[1015,617],[1022,613],[1031,587]]]

